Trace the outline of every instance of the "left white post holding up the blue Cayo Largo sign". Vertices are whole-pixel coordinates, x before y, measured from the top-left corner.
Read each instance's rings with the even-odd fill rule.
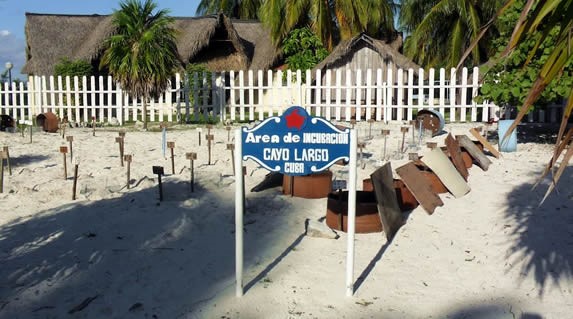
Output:
[[[243,296],[243,144],[241,129],[235,131],[235,292]]]

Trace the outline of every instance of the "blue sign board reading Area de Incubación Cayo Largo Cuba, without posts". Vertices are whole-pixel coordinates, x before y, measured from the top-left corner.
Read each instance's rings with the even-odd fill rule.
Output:
[[[350,160],[350,130],[310,116],[300,106],[267,118],[252,129],[243,128],[243,160],[287,175],[323,171],[339,160]]]

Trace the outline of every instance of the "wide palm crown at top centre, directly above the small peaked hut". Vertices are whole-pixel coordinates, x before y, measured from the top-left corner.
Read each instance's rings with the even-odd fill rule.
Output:
[[[308,26],[328,49],[361,32],[374,37],[393,31],[392,0],[266,0],[260,19],[275,44],[296,28]]]

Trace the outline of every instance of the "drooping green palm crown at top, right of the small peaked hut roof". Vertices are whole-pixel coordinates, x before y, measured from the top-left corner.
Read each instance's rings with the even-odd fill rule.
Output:
[[[410,34],[404,53],[427,68],[455,67],[500,5],[500,0],[404,0],[400,24]],[[484,41],[473,47],[471,64],[493,54],[487,40],[495,35],[495,28],[490,28]]]

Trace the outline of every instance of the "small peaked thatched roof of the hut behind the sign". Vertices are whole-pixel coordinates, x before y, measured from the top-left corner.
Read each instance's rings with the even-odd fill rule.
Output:
[[[391,44],[374,39],[366,34],[360,34],[350,40],[341,41],[326,59],[314,67],[314,70],[336,67],[341,60],[351,56],[364,46],[376,51],[385,60],[392,61],[397,68],[405,70],[413,69],[414,72],[418,74],[418,70],[420,69],[419,65],[402,55],[394,49]]]

